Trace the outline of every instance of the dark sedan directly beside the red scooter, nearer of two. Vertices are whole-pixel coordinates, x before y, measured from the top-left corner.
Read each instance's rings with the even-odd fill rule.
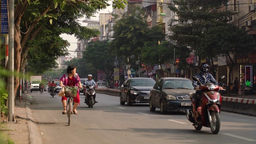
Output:
[[[160,78],[150,91],[150,111],[160,108],[161,114],[170,110],[191,109],[190,95],[194,91],[187,78]]]

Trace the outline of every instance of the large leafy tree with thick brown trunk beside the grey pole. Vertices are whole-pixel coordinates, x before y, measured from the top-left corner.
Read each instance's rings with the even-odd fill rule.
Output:
[[[114,0],[113,7],[124,8],[123,1],[126,2],[126,0]],[[90,18],[96,10],[109,6],[107,0],[15,0],[15,4],[14,70],[16,72],[24,70],[29,57],[30,43],[41,30],[47,30],[52,26],[59,28],[54,31],[58,34],[75,34],[78,39],[94,37],[97,33],[80,26],[77,19],[82,16]],[[14,85],[14,91],[17,91],[18,77],[15,77]]]

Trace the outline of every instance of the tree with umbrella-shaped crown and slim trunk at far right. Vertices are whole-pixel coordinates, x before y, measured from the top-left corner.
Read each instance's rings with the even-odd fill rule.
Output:
[[[234,25],[216,26],[207,30],[203,36],[201,47],[208,49],[214,47],[219,56],[226,57],[230,60],[228,82],[230,88],[231,74],[237,59],[246,56],[250,50],[254,49],[254,42],[251,35],[246,31],[239,29]],[[228,89],[229,90],[229,89]]]

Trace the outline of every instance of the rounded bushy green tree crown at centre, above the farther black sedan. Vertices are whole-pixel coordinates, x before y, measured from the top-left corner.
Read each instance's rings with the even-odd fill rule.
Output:
[[[113,25],[114,40],[110,43],[110,49],[118,57],[124,56],[126,63],[128,63],[127,58],[132,58],[131,56],[134,58],[141,56],[141,49],[147,41],[149,29],[147,20],[143,17],[144,14],[145,11],[140,6],[129,4],[128,12],[122,14]]]

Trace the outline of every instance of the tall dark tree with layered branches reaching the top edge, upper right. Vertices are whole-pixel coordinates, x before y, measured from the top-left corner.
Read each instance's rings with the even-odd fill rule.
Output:
[[[218,51],[212,51],[214,47],[205,49],[200,47],[200,43],[204,39],[204,32],[216,26],[225,26],[228,22],[228,17],[237,14],[237,12],[231,10],[218,10],[218,8],[226,6],[228,1],[173,0],[174,4],[169,4],[168,8],[175,12],[181,24],[171,27],[174,32],[172,39],[178,45],[190,47],[198,56],[216,57]]]

